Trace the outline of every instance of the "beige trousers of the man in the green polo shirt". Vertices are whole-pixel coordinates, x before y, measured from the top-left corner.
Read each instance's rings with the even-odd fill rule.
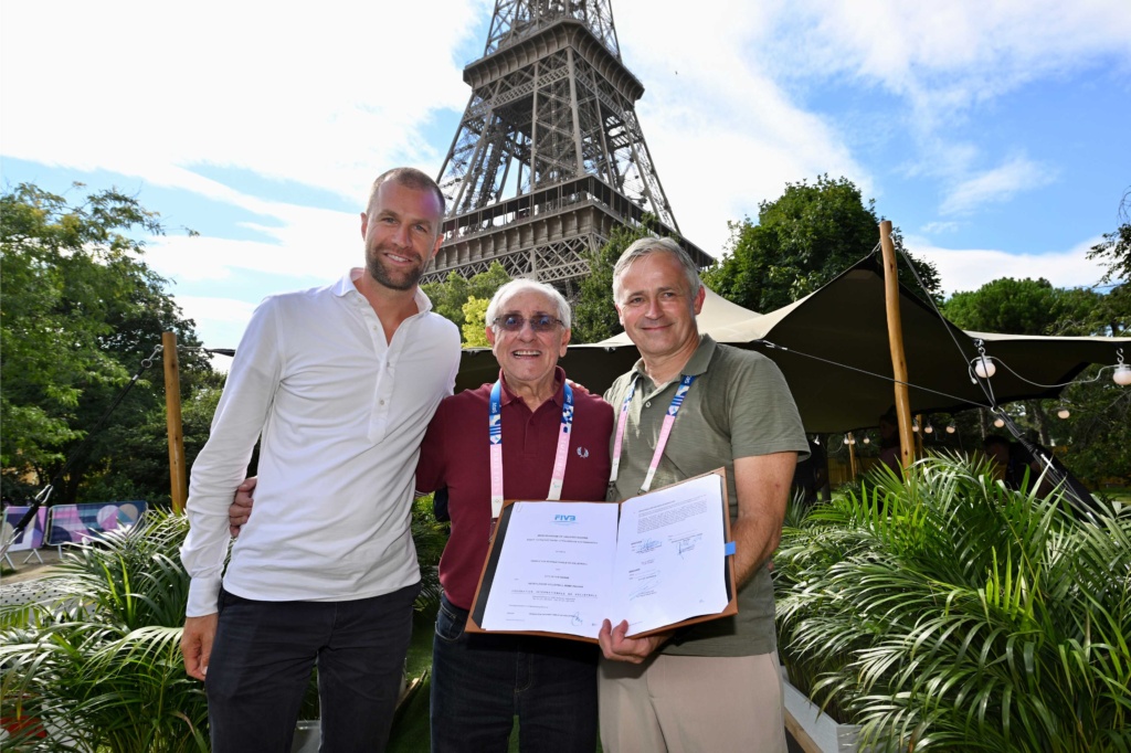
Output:
[[[786,753],[777,654],[601,660],[605,753]]]

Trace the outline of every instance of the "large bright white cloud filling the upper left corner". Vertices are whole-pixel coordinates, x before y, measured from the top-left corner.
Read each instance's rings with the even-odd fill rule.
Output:
[[[210,163],[359,196],[391,164],[439,166],[420,129],[466,101],[452,51],[484,5],[6,3],[3,150],[190,190],[176,168]]]

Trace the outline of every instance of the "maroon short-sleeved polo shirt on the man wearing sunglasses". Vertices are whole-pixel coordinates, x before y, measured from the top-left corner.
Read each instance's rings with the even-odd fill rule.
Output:
[[[500,379],[502,374],[500,374]],[[559,384],[566,372],[558,367]],[[451,537],[440,559],[440,583],[456,606],[469,609],[487,556],[491,528],[491,453],[487,416],[491,384],[444,398],[429,424],[416,488],[433,492],[448,487]],[[558,451],[566,391],[534,413],[521,398],[502,389],[502,493],[508,500],[544,500]],[[608,438],[613,408],[599,396],[573,390],[573,427],[562,500],[603,502],[608,485]]]

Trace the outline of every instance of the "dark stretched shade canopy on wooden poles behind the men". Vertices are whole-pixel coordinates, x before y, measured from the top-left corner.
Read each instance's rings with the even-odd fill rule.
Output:
[[[1036,337],[967,332],[900,287],[913,413],[1001,405],[1056,397],[1062,384],[1088,364],[1114,364],[1119,348],[1131,354],[1131,338]],[[884,306],[883,274],[867,257],[824,287],[800,301],[758,314],[707,292],[699,331],[716,340],[757,349],[772,358],[793,391],[805,430],[841,432],[874,426],[895,403],[891,350]],[[998,371],[974,383],[969,363],[976,340],[994,358]],[[570,379],[603,392],[628,371],[639,354],[625,335],[594,345],[570,346],[561,361]],[[466,350],[457,390],[478,387],[498,375],[486,349]]]

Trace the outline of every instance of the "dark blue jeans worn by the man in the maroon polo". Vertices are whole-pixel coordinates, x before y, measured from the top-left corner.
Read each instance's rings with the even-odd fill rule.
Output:
[[[465,633],[441,599],[432,641],[432,751],[506,751],[518,716],[524,753],[593,753],[597,647],[556,638]]]

